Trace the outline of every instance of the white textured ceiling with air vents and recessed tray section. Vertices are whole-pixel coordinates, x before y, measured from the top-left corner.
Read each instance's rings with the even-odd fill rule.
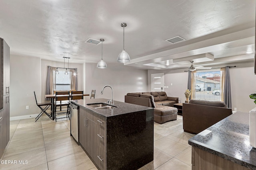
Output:
[[[256,0],[1,0],[0,37],[12,55],[70,63],[98,63],[101,43],[84,41],[103,38],[103,59],[114,63],[126,22],[124,65],[186,68],[172,59],[205,53],[214,61],[195,66],[252,62],[255,9]],[[186,40],[165,41],[176,36]]]

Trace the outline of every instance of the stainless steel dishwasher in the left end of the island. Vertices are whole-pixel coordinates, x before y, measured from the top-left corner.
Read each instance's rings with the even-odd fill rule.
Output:
[[[78,112],[79,106],[70,103],[70,135],[78,143]]]

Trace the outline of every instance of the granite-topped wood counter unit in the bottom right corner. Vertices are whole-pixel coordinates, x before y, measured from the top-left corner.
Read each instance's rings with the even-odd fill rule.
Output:
[[[249,143],[249,113],[236,112],[188,140],[192,170],[255,170]]]

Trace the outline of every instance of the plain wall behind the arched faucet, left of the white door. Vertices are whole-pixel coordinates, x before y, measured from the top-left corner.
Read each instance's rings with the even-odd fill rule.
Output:
[[[114,100],[124,102],[124,96],[128,92],[144,92],[148,88],[147,70],[136,67],[124,66],[121,63],[108,64],[108,68],[99,69],[97,64],[86,63],[86,82],[85,91],[91,94],[96,90],[95,98],[110,99],[111,90],[109,87],[104,89],[105,85],[110,85],[114,89]],[[90,99],[90,97],[86,97]]]

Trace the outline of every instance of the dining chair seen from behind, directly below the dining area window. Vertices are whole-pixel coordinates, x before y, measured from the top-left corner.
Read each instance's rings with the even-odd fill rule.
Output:
[[[60,109],[57,111],[57,107],[62,107],[66,106],[66,110]],[[69,114],[70,114],[70,92],[69,91],[61,91],[61,92],[55,92],[55,102],[54,102],[54,117],[55,121],[57,119],[62,119],[65,117],[60,117],[57,118],[56,115],[61,115],[61,114],[66,114],[66,117],[70,119]]]

